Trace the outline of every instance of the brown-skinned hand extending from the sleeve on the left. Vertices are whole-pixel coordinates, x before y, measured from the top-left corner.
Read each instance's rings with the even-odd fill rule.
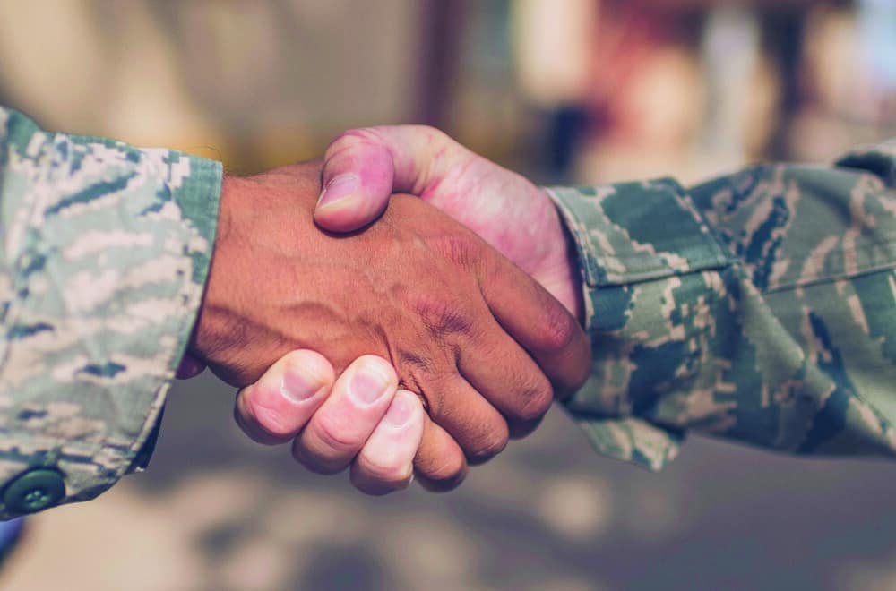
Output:
[[[319,174],[296,165],[225,179],[191,354],[236,385],[297,348],[337,371],[361,355],[389,359],[432,417],[418,475],[452,486],[466,458],[494,455],[547,412],[548,380],[584,381],[587,340],[538,284],[423,201],[396,197],[365,232],[323,234]],[[386,390],[360,396],[373,404]]]

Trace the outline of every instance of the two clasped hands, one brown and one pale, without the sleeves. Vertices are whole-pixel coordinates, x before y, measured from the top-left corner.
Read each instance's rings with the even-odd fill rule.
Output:
[[[431,128],[348,132],[323,164],[225,177],[179,376],[240,387],[243,430],[314,472],[447,490],[586,380],[580,282],[523,177]]]

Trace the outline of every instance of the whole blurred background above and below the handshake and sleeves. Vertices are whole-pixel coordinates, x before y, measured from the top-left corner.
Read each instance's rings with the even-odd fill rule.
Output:
[[[426,123],[540,183],[827,162],[896,136],[896,1],[0,0],[0,103],[53,130],[314,158]],[[896,466],[692,438],[659,475],[560,409],[457,492],[368,499],[210,377],[149,471],[30,519],[8,589],[896,589]]]

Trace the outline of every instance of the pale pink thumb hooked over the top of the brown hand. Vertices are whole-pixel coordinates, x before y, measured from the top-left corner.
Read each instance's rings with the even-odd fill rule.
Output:
[[[342,133],[323,157],[314,220],[333,232],[364,227],[383,213],[392,193],[422,195],[464,153],[461,144],[425,125]]]

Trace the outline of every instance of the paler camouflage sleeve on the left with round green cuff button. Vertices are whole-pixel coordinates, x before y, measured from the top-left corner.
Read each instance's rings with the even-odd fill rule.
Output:
[[[145,466],[211,259],[220,164],[0,108],[0,518]]]

